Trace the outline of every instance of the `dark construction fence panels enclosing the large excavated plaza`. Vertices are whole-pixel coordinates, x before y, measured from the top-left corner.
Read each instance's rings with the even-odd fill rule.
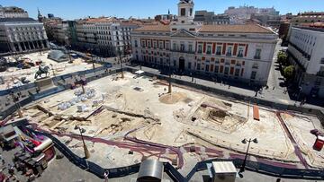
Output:
[[[64,82],[64,79],[67,78],[71,78],[73,75],[76,74],[85,74],[88,75],[89,77],[86,77],[87,81],[93,81],[96,80],[98,78],[101,78],[103,76],[107,76],[110,74],[116,74],[121,72],[121,69],[112,69],[110,72],[108,71],[108,68],[111,68],[111,65],[109,66],[102,66],[99,68],[96,68],[95,70],[86,70],[86,71],[82,71],[79,73],[74,73],[74,74],[66,74],[66,75],[62,75],[62,76],[58,76],[53,78],[53,82]],[[137,71],[133,68],[124,68],[124,71]],[[96,74],[94,74],[94,72],[96,72]],[[160,74],[150,74],[147,73],[147,76],[157,76],[158,79],[162,79],[162,80],[167,80],[168,78],[166,76],[162,76]],[[193,88],[196,89],[202,89],[203,91],[211,91],[213,93],[219,93],[220,91],[218,91],[217,89],[214,88],[208,88],[206,86],[203,85],[198,85],[198,84],[194,84],[192,82],[184,82],[181,80],[177,80],[177,79],[173,79],[172,82],[178,83],[178,84],[184,84],[187,86],[192,86]],[[35,86],[34,83],[31,84],[27,84],[27,85],[23,85],[23,88],[14,88],[10,91],[20,91],[21,89],[24,88],[33,88]],[[57,91],[64,91],[66,90],[67,87],[65,87],[64,89],[58,89]],[[2,91],[0,92],[0,96],[2,95],[6,95],[9,94],[10,91],[6,92],[6,91]],[[5,94],[4,94],[5,92]],[[33,100],[37,100],[40,99],[42,97],[45,97],[46,95],[49,94],[53,94],[55,93],[55,91],[44,91],[44,92],[39,92],[37,94],[31,95],[30,97],[28,97],[25,100],[20,100],[19,104],[21,106],[24,106],[26,104],[31,103],[31,101]],[[220,92],[221,95],[227,94],[224,93],[224,91]],[[233,93],[229,93],[230,97],[235,97],[235,95],[233,95]],[[246,97],[243,96],[239,96],[239,98],[241,98],[242,100],[246,100]],[[237,98],[238,99],[238,98]],[[267,103],[269,104],[269,103]],[[275,106],[275,103],[271,103],[270,104],[272,107]],[[266,105],[268,106],[268,105]],[[287,106],[285,106],[285,108],[287,108]],[[6,108],[5,110],[1,111],[1,117],[7,117],[8,115],[10,115],[11,113],[13,113],[15,110],[17,109],[16,106],[11,106],[9,108]],[[314,112],[314,109],[311,110],[312,112]],[[310,111],[310,112],[311,112]],[[316,111],[318,112],[318,111]],[[321,113],[321,112],[320,112]],[[67,157],[68,160],[70,160],[72,163],[74,163],[76,166],[78,166],[81,169],[85,169],[91,173],[93,173],[94,175],[96,175],[99,178],[103,178],[103,173],[104,171],[108,170],[109,171],[109,178],[121,178],[124,176],[128,176],[130,174],[134,174],[139,172],[139,166],[140,164],[135,164],[132,166],[128,166],[128,167],[122,167],[122,168],[116,168],[116,169],[103,169],[102,167],[100,167],[99,165],[95,164],[94,162],[85,160],[83,158],[80,158],[79,156],[77,156],[75,153],[71,152],[67,146],[64,143],[60,143],[59,140],[52,136],[51,134],[46,134],[46,133],[40,133],[37,131],[34,131],[32,129],[30,129],[32,132],[36,133],[36,134],[43,134],[46,135],[47,137],[49,137],[55,147],[58,149],[59,152],[61,152],[64,156]],[[166,174],[168,174],[168,176],[170,178],[173,178],[175,181],[180,181],[180,182],[187,182],[190,181],[190,179],[193,177],[193,175],[201,170],[205,170],[207,169],[206,164],[210,163],[211,161],[218,161],[218,160],[229,160],[229,159],[214,159],[214,160],[204,160],[201,162],[198,162],[195,167],[191,170],[191,172],[186,176],[182,176],[171,164],[169,163],[164,163],[165,165],[165,172]],[[242,163],[243,160],[241,159],[231,159],[231,161],[234,162],[235,166],[237,168],[239,168]],[[313,180],[319,180],[319,179],[324,179],[324,171],[323,170],[317,170],[317,169],[288,169],[288,168],[282,168],[282,167],[277,167],[277,166],[273,166],[270,164],[265,164],[265,163],[261,163],[261,162],[257,162],[257,161],[247,161],[247,169],[252,170],[252,171],[256,171],[259,173],[263,173],[266,175],[270,175],[270,176],[274,176],[277,178],[299,178],[299,179],[313,179]]]

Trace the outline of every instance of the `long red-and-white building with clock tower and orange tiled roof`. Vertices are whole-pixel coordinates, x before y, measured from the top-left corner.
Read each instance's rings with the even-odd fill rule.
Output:
[[[131,33],[133,59],[266,85],[278,36],[259,25],[202,25],[193,22],[193,1],[178,3],[178,19]]]

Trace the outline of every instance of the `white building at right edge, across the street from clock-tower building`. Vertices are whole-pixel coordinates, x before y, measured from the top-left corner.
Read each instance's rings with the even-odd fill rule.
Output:
[[[324,29],[292,27],[288,54],[302,92],[324,98]]]

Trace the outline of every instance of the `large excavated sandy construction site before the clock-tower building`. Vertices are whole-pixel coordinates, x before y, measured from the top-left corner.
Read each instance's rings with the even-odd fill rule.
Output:
[[[123,78],[122,78],[123,77]],[[244,158],[291,168],[324,169],[324,152],[313,149],[323,133],[314,116],[225,100],[211,93],[138,74],[103,77],[23,108],[40,131],[53,134],[79,156],[116,168],[146,159],[168,161],[181,172],[197,161]]]

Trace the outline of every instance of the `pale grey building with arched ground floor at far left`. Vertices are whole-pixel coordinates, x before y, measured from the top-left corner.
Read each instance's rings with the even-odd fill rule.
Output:
[[[49,48],[44,26],[31,18],[0,19],[2,52],[23,53]]]

